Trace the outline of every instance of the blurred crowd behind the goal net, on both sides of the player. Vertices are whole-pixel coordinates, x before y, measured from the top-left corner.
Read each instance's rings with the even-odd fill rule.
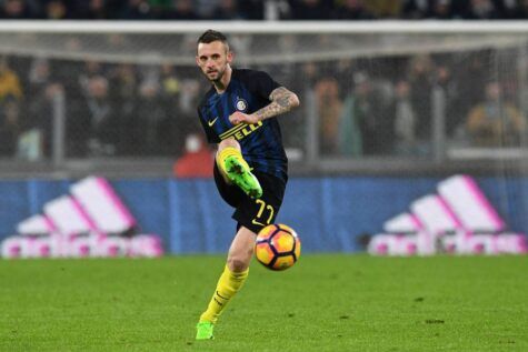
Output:
[[[322,154],[427,158],[438,113],[454,145],[526,145],[522,82],[517,70],[496,74],[516,64],[501,58],[478,50],[255,68],[300,95],[303,109],[281,121],[288,148],[305,147],[315,113]],[[196,107],[207,89],[195,67],[3,57],[0,154],[49,157],[60,97],[68,158],[198,152],[205,141]]]

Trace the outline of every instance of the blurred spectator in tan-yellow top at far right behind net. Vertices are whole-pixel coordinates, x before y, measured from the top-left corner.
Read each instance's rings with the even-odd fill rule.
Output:
[[[469,111],[467,131],[477,147],[519,145],[526,133],[526,120],[519,110],[502,99],[499,82],[486,86],[486,100]]]

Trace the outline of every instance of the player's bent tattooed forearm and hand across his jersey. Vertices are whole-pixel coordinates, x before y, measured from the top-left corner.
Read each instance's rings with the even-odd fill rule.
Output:
[[[269,100],[271,100],[271,102],[262,109],[257,110],[251,114],[246,114],[243,112],[236,111],[229,117],[229,120],[233,124],[238,124],[241,122],[257,123],[265,119],[269,119],[278,114],[288,112],[291,109],[299,107],[300,104],[297,94],[283,87],[273,89],[273,91],[269,94]]]

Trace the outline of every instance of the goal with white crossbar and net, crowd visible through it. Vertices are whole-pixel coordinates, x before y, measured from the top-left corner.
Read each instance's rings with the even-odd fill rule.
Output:
[[[0,23],[3,172],[170,169],[203,135],[209,28],[235,67],[298,93],[280,120],[293,172],[526,171],[526,23],[13,21]]]

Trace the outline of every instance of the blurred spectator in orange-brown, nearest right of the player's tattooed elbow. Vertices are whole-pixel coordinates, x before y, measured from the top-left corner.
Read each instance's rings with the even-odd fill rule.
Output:
[[[336,79],[321,78],[315,87],[319,135],[322,154],[337,154],[339,138],[339,117],[342,102],[339,97],[339,83]]]

